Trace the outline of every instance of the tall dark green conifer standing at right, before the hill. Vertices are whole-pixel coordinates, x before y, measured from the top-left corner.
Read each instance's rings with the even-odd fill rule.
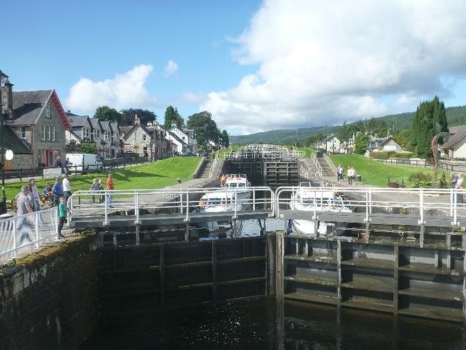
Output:
[[[412,145],[420,158],[432,158],[431,140],[439,132],[448,132],[445,105],[437,96],[416,109],[412,122]]]

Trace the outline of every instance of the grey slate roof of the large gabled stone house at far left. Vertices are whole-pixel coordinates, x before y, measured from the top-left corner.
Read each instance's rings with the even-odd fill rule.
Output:
[[[53,90],[13,91],[13,124],[36,124]]]

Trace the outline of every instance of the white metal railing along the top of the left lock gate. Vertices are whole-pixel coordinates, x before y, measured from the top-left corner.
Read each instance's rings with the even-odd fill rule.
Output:
[[[241,192],[251,192],[248,198],[241,198]],[[210,188],[165,188],[165,189],[133,189],[114,191],[76,191],[68,199],[68,223],[73,223],[83,216],[100,216],[104,225],[115,211],[126,211],[136,216],[140,222],[141,211],[153,213],[173,213],[184,215],[186,222],[190,216],[201,211],[200,199],[208,193],[227,193],[229,205],[219,202],[213,211],[230,211],[236,218],[238,211],[270,211],[275,214],[275,193],[270,187],[239,187],[225,189]],[[217,209],[215,209],[217,207]],[[114,216],[113,216],[114,217]]]

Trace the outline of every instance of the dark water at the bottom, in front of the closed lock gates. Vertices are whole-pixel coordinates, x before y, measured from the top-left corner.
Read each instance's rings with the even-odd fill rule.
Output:
[[[80,350],[466,349],[464,325],[274,301],[208,305],[103,320]]]

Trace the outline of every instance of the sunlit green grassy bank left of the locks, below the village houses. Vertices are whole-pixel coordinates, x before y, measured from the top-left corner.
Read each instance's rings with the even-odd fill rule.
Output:
[[[112,170],[115,189],[158,189],[177,183],[177,178],[181,181],[191,180],[194,170],[196,170],[201,158],[198,157],[174,157],[163,161],[135,166],[126,169]],[[102,179],[105,184],[108,173],[92,173],[71,175],[73,192],[78,189],[90,189],[92,179]],[[39,180],[36,178],[37,188],[42,193],[44,185],[52,180]],[[27,181],[27,180],[26,180]],[[13,199],[20,192],[20,187],[27,185],[27,182],[9,182],[5,185],[6,198]]]

